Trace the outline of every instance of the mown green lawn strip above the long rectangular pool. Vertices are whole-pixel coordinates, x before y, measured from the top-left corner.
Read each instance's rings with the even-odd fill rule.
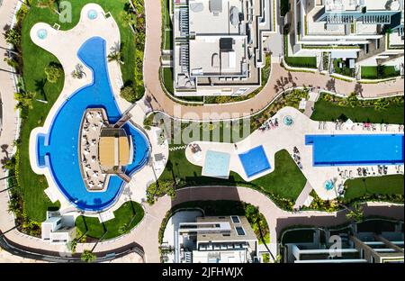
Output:
[[[336,121],[341,119],[342,116],[350,118],[353,122],[404,123],[403,104],[392,104],[386,109],[376,110],[374,106],[340,106],[322,99],[315,104],[315,111],[312,113],[311,119],[315,121]]]

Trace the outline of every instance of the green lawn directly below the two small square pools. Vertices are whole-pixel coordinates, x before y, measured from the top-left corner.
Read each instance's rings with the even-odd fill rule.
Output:
[[[288,177],[286,177],[288,175]],[[265,193],[295,200],[306,184],[302,171],[295,165],[290,154],[281,150],[275,154],[275,171],[250,183],[237,173],[231,172],[228,180],[202,177],[202,168],[193,166],[185,159],[184,150],[171,151],[168,164],[159,180],[180,181],[179,186],[247,186]]]

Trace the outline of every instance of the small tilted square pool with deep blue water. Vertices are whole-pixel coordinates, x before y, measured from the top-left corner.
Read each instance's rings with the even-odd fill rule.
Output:
[[[263,146],[258,146],[238,156],[247,177],[254,177],[271,168]]]

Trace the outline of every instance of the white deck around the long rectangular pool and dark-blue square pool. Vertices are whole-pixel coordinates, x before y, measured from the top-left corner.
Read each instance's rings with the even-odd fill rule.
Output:
[[[284,117],[290,115],[293,117],[293,125],[286,126],[283,122]],[[278,118],[279,126],[275,129],[267,131],[254,131],[247,139],[237,143],[237,148],[232,143],[219,143],[219,142],[207,142],[196,141],[193,144],[198,144],[202,150],[202,157],[195,159],[193,152],[189,147],[185,150],[186,158],[197,166],[203,166],[205,162],[205,154],[208,150],[215,150],[220,152],[226,152],[230,155],[230,170],[238,173],[245,181],[252,181],[258,177],[263,177],[275,170],[275,153],[280,150],[287,150],[293,157],[293,148],[297,147],[300,150],[302,173],[308,179],[313,189],[317,192],[320,198],[324,200],[334,199],[338,197],[337,188],[340,184],[343,184],[347,178],[339,176],[339,173],[347,171],[347,176],[357,176],[357,168],[368,168],[371,172],[370,176],[373,176],[372,170],[376,172],[376,166],[343,166],[343,167],[313,167],[312,165],[312,146],[305,145],[305,135],[308,134],[392,134],[401,133],[399,125],[389,125],[387,131],[385,127],[383,131],[380,125],[376,126],[376,131],[363,130],[363,123],[355,123],[353,128],[347,128],[343,125],[341,130],[336,130],[335,122],[326,122],[325,129],[320,129],[320,122],[312,121],[309,117],[294,109],[293,107],[284,107],[278,113],[272,117],[272,120]],[[270,162],[271,169],[267,170],[255,177],[248,178],[240,160],[238,154],[251,150],[257,146],[263,145],[267,159]],[[397,166],[388,166],[388,175],[397,174]],[[352,171],[350,173],[350,171]],[[403,173],[403,163],[401,165],[401,172]],[[375,174],[377,176],[378,173]],[[285,175],[288,177],[288,175]],[[326,190],[324,184],[327,180],[333,179],[336,181],[335,188],[332,190]]]

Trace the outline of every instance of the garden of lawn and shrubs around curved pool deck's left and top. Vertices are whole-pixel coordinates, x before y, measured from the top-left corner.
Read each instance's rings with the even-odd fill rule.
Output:
[[[139,39],[139,35],[136,37],[130,30],[128,23],[130,5],[128,1],[72,1],[72,23],[59,23],[56,4],[50,5],[50,7],[40,7],[38,0],[32,0],[30,9],[23,7],[25,11],[20,17],[21,41],[18,42],[21,45],[19,48],[16,48],[21,50],[23,59],[23,66],[20,66],[22,67],[23,74],[22,94],[18,96],[23,122],[20,141],[18,142],[18,153],[16,155],[16,175],[18,188],[23,196],[24,213],[26,217],[38,222],[45,219],[46,211],[49,208],[58,208],[59,204],[51,204],[49,202],[48,197],[43,192],[48,187],[45,177],[38,176],[31,170],[28,151],[29,139],[31,131],[36,127],[42,126],[45,122],[50,108],[58,99],[64,81],[62,76],[52,81],[55,83],[49,82],[45,68],[54,63],[58,64],[58,59],[35,45],[31,41],[30,31],[35,23],[40,22],[49,23],[50,25],[59,23],[61,30],[71,29],[78,22],[82,7],[88,3],[102,5],[106,12],[111,12],[120,27],[120,57],[124,62],[124,64],[121,64],[121,72],[126,86],[134,86],[141,91],[141,86],[136,81],[140,81],[143,85],[142,77],[139,77],[139,71],[136,70],[139,69],[139,58],[143,59],[143,50],[141,54],[139,51],[139,46],[143,45],[136,44],[136,42],[142,41],[142,38]],[[140,0],[134,1],[137,7],[139,7],[139,3],[143,4]],[[131,18],[132,16],[130,16],[130,20]],[[37,102],[36,99],[46,101],[46,103]]]

